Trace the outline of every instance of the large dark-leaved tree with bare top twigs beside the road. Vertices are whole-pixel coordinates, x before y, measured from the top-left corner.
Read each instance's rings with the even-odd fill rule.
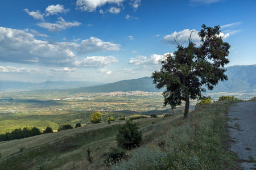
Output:
[[[188,46],[176,42],[177,50],[174,55],[168,54],[161,61],[160,71],[152,73],[151,78],[156,88],[166,88],[163,92],[164,104],[174,109],[185,101],[184,118],[188,116],[189,98],[199,99],[201,92],[205,92],[203,85],[208,90],[213,90],[219,80],[228,80],[224,74],[224,65],[229,63],[230,45],[221,37],[220,26],[207,27],[202,25],[199,36],[201,45],[196,46],[189,36]]]

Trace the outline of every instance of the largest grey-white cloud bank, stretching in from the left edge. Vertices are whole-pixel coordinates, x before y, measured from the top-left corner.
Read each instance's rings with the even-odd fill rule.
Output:
[[[117,62],[112,56],[78,58],[92,52],[119,50],[119,44],[96,37],[76,42],[36,40],[34,35],[19,29],[0,27],[0,61],[64,67],[100,67]]]

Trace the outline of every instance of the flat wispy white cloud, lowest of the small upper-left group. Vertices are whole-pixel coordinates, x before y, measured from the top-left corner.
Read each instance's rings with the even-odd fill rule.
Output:
[[[71,27],[77,27],[79,25],[81,25],[81,23],[79,22],[65,22],[65,20],[61,17],[58,18],[59,21],[57,21],[56,23],[38,23],[36,25],[38,25],[39,27],[42,28],[46,28],[49,31],[61,31],[61,29],[67,29],[67,28],[71,28]]]

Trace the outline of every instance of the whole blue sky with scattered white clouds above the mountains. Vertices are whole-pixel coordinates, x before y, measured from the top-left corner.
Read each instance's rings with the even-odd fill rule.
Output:
[[[255,65],[255,0],[1,0],[0,80],[112,83],[151,76],[220,25],[230,63]]]

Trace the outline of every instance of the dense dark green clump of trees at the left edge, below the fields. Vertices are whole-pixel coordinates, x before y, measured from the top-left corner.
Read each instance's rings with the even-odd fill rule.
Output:
[[[22,139],[22,138],[28,138],[33,137],[35,135],[42,134],[40,130],[36,127],[25,127],[23,129],[15,129],[11,133],[1,134],[0,135],[0,142],[1,141],[10,141],[13,139]]]

